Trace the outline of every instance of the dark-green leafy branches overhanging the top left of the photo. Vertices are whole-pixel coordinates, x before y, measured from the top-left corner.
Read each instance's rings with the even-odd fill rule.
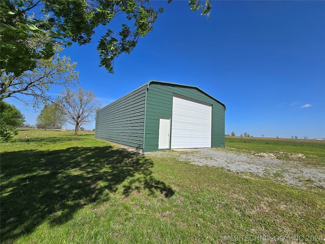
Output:
[[[203,15],[210,14],[210,0],[190,0],[188,5],[191,11],[202,8]],[[43,15],[50,16],[48,21],[30,16],[29,13],[40,9]],[[0,11],[1,73],[19,76],[36,68],[36,60],[53,56],[55,43],[87,44],[96,27],[107,25],[121,15],[128,24],[122,23],[119,31],[107,28],[97,47],[100,65],[113,73],[114,58],[123,52],[130,53],[138,39],[152,31],[163,8],[154,10],[149,0],[7,0],[0,2]],[[46,33],[49,40],[41,38],[38,48],[28,45],[28,40],[44,37]]]

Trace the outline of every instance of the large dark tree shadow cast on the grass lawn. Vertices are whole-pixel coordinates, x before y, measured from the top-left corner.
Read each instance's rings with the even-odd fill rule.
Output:
[[[174,195],[153,177],[151,160],[111,146],[24,150],[3,153],[1,161],[2,241],[14,241],[45,220],[65,223],[82,206],[109,200],[118,187],[125,197],[134,190]],[[141,187],[132,187],[132,181]]]

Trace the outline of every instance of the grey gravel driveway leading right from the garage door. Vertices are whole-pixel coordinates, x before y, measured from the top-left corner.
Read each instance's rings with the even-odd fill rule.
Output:
[[[238,173],[272,178],[282,184],[305,187],[307,185],[325,188],[325,167],[305,166],[295,161],[282,161],[256,157],[253,155],[235,154],[230,151],[212,148],[190,149],[190,153],[179,154],[181,161],[189,161],[198,165],[210,165]],[[156,156],[167,156],[168,151],[157,151]]]

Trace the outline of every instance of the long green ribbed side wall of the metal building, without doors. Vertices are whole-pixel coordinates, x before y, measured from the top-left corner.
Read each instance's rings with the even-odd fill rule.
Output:
[[[95,138],[143,148],[146,84],[96,112]]]

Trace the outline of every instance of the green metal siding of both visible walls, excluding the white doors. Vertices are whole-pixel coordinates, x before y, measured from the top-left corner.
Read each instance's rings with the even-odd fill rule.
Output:
[[[224,146],[225,106],[198,87],[150,81],[96,113],[95,138],[158,150],[159,118],[171,118],[173,95],[212,104],[211,146]]]

